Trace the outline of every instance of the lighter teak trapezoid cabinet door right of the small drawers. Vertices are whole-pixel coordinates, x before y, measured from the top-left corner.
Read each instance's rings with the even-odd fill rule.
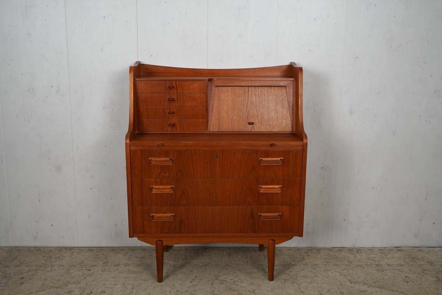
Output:
[[[209,131],[292,131],[286,87],[217,86],[212,95]]]

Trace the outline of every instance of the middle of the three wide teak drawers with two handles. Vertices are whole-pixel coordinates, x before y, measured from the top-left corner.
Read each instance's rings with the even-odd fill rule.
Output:
[[[300,178],[132,179],[133,206],[299,206]]]

